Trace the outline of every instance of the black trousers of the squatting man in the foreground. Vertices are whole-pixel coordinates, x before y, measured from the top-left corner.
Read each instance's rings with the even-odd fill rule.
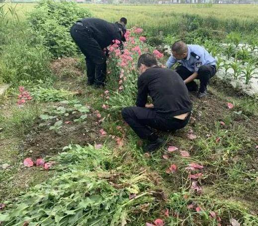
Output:
[[[141,139],[149,139],[153,134],[151,128],[167,132],[175,131],[183,128],[190,119],[190,113],[186,119],[181,120],[169,114],[157,113],[155,109],[140,107],[124,108],[122,116]]]

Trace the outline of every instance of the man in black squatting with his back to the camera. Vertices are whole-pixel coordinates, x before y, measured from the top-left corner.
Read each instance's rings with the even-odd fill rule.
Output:
[[[142,54],[138,68],[137,107],[124,108],[122,116],[140,138],[150,141],[146,150],[151,152],[165,141],[150,127],[162,131],[184,127],[189,121],[192,104],[181,77],[175,71],[158,67],[152,54]],[[146,105],[148,95],[153,101],[151,105]]]

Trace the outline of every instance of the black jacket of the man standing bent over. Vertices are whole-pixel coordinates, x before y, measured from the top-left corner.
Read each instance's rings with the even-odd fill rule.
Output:
[[[78,22],[84,24],[86,30],[91,33],[102,49],[109,46],[113,40],[121,41],[122,35],[118,24],[98,18],[85,18]]]

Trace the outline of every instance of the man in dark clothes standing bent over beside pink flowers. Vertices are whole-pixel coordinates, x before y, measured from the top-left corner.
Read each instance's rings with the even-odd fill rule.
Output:
[[[112,44],[113,40],[126,41],[124,38],[126,23],[127,19],[124,17],[116,23],[97,18],[85,18],[72,26],[71,36],[86,57],[88,85],[104,86],[106,47]]]

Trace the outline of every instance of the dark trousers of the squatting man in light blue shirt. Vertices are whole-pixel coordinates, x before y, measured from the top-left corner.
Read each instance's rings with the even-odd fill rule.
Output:
[[[193,74],[193,72],[189,71],[186,67],[182,65],[179,65],[175,69],[175,71],[180,75],[183,80],[187,79]],[[216,72],[216,66],[212,65],[203,65],[199,68],[197,79],[200,80],[200,93],[203,93],[207,89],[210,78],[212,78],[216,74]],[[197,91],[197,84],[194,81],[187,83],[186,87],[188,91]]]

